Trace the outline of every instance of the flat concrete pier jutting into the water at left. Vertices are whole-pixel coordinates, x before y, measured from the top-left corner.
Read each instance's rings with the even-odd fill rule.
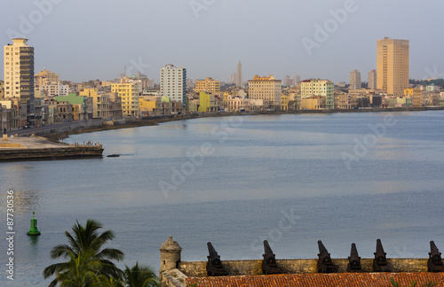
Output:
[[[14,159],[73,159],[102,157],[101,144],[83,145],[50,141],[40,136],[8,136],[0,141],[0,161]]]

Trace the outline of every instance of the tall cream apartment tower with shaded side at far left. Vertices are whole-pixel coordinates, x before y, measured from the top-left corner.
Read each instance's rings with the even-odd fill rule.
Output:
[[[34,118],[34,47],[15,38],[4,46],[4,97],[26,103],[28,122]]]

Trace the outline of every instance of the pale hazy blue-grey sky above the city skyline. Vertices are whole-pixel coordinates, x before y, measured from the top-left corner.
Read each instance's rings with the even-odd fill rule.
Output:
[[[241,60],[243,81],[349,82],[354,69],[367,81],[388,36],[409,40],[411,79],[442,78],[442,12],[442,0],[2,0],[0,43],[29,39],[36,74],[68,81],[114,80],[126,66],[158,82],[167,64],[231,81]]]

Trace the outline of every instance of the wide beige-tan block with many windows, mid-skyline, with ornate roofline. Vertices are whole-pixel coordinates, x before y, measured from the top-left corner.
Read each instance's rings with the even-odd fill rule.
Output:
[[[249,98],[253,100],[263,100],[264,106],[270,109],[279,110],[281,108],[282,81],[274,78],[259,77],[255,75],[253,80],[249,80]]]

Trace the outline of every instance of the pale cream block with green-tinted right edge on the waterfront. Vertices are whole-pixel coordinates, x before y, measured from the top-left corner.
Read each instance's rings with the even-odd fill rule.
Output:
[[[301,98],[307,97],[325,97],[325,106],[327,109],[335,108],[335,84],[333,81],[310,79],[301,81]]]

